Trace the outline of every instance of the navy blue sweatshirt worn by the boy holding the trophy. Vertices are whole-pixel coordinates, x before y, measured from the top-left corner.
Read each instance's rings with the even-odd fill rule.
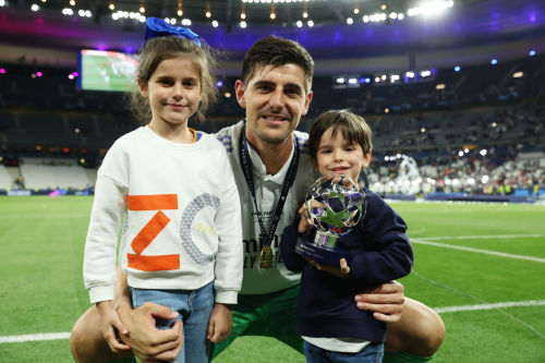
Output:
[[[352,337],[383,342],[386,324],[373,317],[373,312],[355,306],[354,297],[365,288],[375,287],[409,275],[413,254],[407,225],[376,193],[364,189],[366,213],[358,226],[340,237],[337,244],[350,251],[349,279],[320,271],[295,253],[298,220],[286,227],[280,253],[286,267],[302,271],[298,303],[299,334],[307,337]]]

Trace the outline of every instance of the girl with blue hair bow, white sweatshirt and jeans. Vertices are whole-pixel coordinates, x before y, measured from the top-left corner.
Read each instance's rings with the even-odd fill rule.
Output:
[[[237,303],[242,282],[239,195],[223,146],[187,126],[215,96],[209,51],[191,31],[158,19],[147,20],[147,33],[132,104],[148,123],[120,137],[98,170],[84,280],[102,324],[126,334],[112,306],[125,215],[119,259],[133,306],[178,312],[184,341],[177,362],[208,362],[207,339],[229,334],[225,304]]]

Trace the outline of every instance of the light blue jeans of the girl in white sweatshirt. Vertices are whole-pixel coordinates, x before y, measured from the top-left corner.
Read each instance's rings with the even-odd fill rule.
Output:
[[[183,323],[183,344],[175,362],[207,363],[213,344],[206,339],[208,319],[214,307],[214,281],[197,290],[147,290],[131,288],[133,307],[146,302],[170,307]],[[168,329],[175,319],[156,318],[158,329]]]

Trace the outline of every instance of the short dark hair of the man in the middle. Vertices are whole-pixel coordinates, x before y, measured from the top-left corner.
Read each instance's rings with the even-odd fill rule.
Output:
[[[259,66],[280,66],[288,63],[300,65],[303,69],[305,92],[308,93],[314,75],[314,60],[311,55],[299,43],[274,35],[257,40],[246,52],[242,63],[241,81],[243,84],[247,84]]]

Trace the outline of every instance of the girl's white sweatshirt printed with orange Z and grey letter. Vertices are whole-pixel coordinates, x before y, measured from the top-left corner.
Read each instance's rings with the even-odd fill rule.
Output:
[[[120,137],[98,170],[85,244],[90,302],[113,299],[116,251],[129,286],[194,290],[215,280],[216,302],[242,283],[241,211],[225,148],[211,135],[179,144],[148,126]]]

